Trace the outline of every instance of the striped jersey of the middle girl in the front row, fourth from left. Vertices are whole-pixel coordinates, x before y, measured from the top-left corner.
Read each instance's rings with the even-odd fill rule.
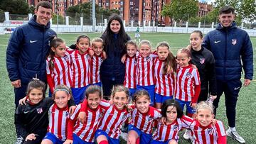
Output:
[[[115,106],[110,106],[100,123],[99,129],[105,131],[110,138],[117,139],[121,133],[120,128],[122,123],[124,123],[129,116],[131,116],[131,113],[129,113],[127,109],[119,110]]]

